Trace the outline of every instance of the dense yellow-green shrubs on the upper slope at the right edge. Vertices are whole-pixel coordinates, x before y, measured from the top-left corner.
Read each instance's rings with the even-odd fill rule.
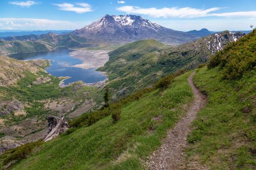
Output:
[[[210,58],[208,68],[220,66],[223,68],[222,77],[233,80],[241,78],[246,72],[256,66],[256,30],[231,42]]]

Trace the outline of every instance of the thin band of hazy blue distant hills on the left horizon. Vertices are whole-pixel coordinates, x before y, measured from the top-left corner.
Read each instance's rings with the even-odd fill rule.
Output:
[[[65,34],[70,33],[72,30],[45,30],[45,31],[6,31],[0,32],[0,37],[9,37],[9,36],[24,36],[24,35],[41,35],[48,33],[56,33],[56,34]]]

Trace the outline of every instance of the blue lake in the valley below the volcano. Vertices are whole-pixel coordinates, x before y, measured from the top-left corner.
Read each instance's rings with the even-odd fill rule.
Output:
[[[82,69],[74,67],[76,64],[81,64],[82,61],[73,58],[69,55],[71,50],[59,49],[53,52],[38,52],[38,53],[24,53],[9,55],[11,58],[18,60],[34,60],[34,59],[47,59],[51,60],[51,66],[46,70],[51,75],[56,77],[71,77],[65,80],[64,84],[73,83],[76,81],[83,81],[84,83],[95,83],[106,79],[102,72],[95,69]]]

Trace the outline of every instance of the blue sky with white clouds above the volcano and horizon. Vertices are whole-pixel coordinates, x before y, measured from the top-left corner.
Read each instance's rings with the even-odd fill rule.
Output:
[[[135,14],[180,31],[249,30],[256,1],[0,1],[0,30],[74,30],[105,14]]]

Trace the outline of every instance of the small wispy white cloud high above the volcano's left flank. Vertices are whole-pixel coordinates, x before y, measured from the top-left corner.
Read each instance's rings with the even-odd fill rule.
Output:
[[[63,11],[73,11],[76,13],[84,13],[84,12],[90,12],[93,11],[92,7],[89,4],[86,3],[76,3],[76,5],[78,6],[74,6],[73,4],[69,4],[69,3],[62,3],[62,4],[53,4],[59,7],[60,10]]]

